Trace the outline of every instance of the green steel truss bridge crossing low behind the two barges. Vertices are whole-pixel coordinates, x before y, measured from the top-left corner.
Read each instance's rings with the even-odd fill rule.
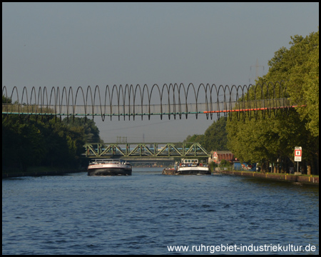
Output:
[[[200,143],[85,143],[88,158],[126,158],[161,161],[175,157],[210,157]]]

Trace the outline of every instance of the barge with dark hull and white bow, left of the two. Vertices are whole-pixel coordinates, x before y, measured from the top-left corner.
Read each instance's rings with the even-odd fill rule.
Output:
[[[88,176],[131,176],[131,163],[116,159],[94,159],[87,171]]]

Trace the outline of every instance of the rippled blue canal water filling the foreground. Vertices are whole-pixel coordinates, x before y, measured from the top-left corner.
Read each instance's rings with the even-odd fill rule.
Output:
[[[173,253],[318,254],[319,188],[161,168],[2,180],[2,254]]]

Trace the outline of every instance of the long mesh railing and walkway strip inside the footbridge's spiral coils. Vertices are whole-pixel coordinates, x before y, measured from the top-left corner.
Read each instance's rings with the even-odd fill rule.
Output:
[[[2,104],[2,114],[62,115],[62,116],[141,116],[210,114],[248,111],[248,109],[277,109],[290,107],[288,99],[252,101],[220,101],[198,104],[144,104],[144,105],[36,105]]]

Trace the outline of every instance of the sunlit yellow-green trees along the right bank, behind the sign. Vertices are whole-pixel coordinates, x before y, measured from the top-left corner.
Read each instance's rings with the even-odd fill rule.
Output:
[[[208,151],[230,150],[240,161],[260,163],[263,171],[272,163],[272,171],[287,173],[296,168],[295,146],[302,146],[301,171],[319,174],[319,31],[291,36],[289,44],[290,49],[275,52],[267,74],[244,97],[260,99],[254,96],[255,86],[263,88],[262,98],[281,97],[269,86],[280,83],[297,107],[279,110],[276,116],[259,113],[257,119],[248,115],[240,119],[240,114],[233,113],[232,119],[218,119],[203,135],[188,136],[185,141],[199,141]],[[280,115],[281,111],[286,114]]]

